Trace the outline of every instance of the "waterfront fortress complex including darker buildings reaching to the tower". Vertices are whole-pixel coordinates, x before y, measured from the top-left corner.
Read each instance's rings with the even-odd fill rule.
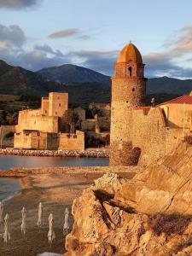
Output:
[[[84,108],[71,109],[79,124],[78,129],[67,132],[61,128],[61,119],[68,110],[68,94],[50,92],[48,97],[42,97],[41,108],[19,112],[14,148],[84,150],[96,142],[104,143],[109,137],[110,106],[91,103],[89,109],[92,108],[99,110],[100,116],[86,119]]]

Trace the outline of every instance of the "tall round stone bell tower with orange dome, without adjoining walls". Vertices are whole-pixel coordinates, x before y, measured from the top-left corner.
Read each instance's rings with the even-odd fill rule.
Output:
[[[143,105],[146,81],[142,55],[134,44],[127,44],[114,64],[112,78],[110,166],[135,163],[132,110]]]

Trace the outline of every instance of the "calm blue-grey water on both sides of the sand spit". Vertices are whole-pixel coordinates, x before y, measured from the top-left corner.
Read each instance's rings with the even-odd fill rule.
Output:
[[[39,166],[108,166],[104,158],[64,158],[38,156],[0,156],[0,170],[11,167]],[[20,181],[15,178],[0,177],[0,201],[9,199],[20,190]]]

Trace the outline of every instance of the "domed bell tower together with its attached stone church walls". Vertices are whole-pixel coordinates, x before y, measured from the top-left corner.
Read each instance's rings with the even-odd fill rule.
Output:
[[[119,53],[112,78],[110,165],[148,165],[192,133],[192,95],[144,107],[142,55],[134,44]]]

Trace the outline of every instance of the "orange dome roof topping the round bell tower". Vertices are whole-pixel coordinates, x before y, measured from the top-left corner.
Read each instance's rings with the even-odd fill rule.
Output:
[[[120,51],[117,62],[135,61],[137,63],[143,63],[142,55],[134,44],[126,44]]]

